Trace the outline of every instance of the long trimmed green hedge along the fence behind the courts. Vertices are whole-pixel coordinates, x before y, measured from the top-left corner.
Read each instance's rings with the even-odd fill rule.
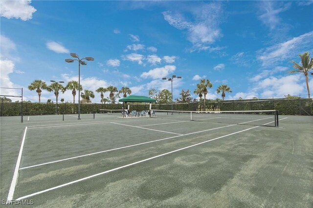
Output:
[[[0,116],[21,115],[22,103],[0,103]],[[150,104],[129,103],[130,110],[148,110]],[[313,115],[313,99],[277,99],[260,101],[206,102],[206,110],[278,110],[282,115]],[[58,107],[58,110],[57,110]],[[100,109],[119,110],[123,104],[80,104],[81,113],[99,113]],[[128,104],[125,105],[128,108]],[[152,104],[152,109],[171,110],[171,104]],[[173,110],[203,110],[203,102],[173,104]],[[76,114],[78,104],[23,103],[23,115]]]

